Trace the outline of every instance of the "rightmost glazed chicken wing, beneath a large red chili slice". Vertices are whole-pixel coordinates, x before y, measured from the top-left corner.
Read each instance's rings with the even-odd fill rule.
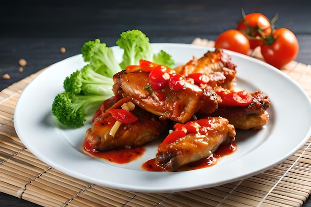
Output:
[[[268,95],[261,90],[250,93],[253,97],[248,106],[219,107],[212,114],[203,116],[221,116],[227,118],[230,124],[240,130],[259,130],[269,121],[266,111],[270,107]],[[198,115],[198,117],[202,117]]]

